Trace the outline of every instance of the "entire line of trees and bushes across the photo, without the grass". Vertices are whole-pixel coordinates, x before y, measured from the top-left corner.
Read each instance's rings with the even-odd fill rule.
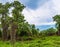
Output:
[[[25,6],[19,1],[0,3],[0,40],[32,40],[34,37],[60,35],[60,15],[53,17],[56,28],[40,31],[34,24],[29,24],[22,14]],[[10,17],[12,15],[12,17]],[[27,16],[28,17],[28,16]]]

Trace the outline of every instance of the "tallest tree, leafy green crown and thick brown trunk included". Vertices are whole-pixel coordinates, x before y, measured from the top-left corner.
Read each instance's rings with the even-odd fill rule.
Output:
[[[19,24],[24,22],[24,16],[22,15],[22,10],[24,9],[24,5],[22,5],[19,1],[14,1],[12,7],[12,24],[11,24],[11,41],[14,43],[16,32],[19,29]],[[14,27],[14,28],[13,28]]]

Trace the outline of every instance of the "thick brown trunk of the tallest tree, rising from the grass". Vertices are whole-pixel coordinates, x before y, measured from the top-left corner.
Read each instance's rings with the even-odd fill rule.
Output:
[[[11,31],[10,31],[10,36],[11,36],[11,43],[14,44],[16,41],[16,24],[12,23],[11,25]]]

